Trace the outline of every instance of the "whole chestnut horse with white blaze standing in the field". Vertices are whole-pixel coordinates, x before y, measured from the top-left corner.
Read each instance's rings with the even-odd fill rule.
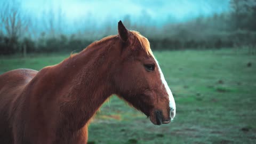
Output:
[[[175,102],[148,39],[118,22],[108,36],[40,71],[0,75],[1,143],[86,143],[87,125],[116,94],[150,118],[167,124]]]

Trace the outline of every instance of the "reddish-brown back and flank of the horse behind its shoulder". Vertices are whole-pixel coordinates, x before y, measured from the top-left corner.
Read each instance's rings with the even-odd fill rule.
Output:
[[[0,141],[12,142],[12,103],[19,97],[24,87],[38,71],[15,69],[0,75]]]

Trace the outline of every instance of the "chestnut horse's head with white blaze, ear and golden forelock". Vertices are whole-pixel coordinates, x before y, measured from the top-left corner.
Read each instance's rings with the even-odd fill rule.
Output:
[[[153,124],[170,123],[175,116],[175,101],[148,39],[127,30],[118,22],[121,54],[117,58],[116,94],[141,110]]]

